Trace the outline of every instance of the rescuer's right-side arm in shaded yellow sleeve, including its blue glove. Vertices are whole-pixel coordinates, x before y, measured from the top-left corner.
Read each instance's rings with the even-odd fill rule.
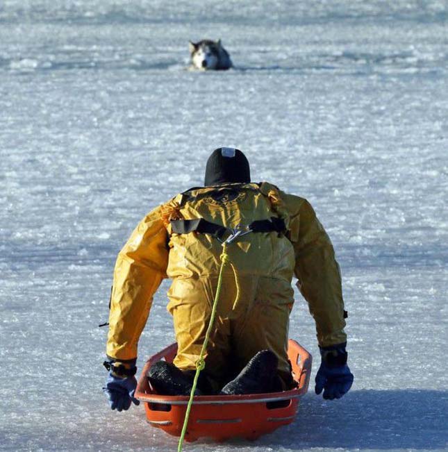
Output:
[[[305,199],[290,219],[297,286],[308,301],[316,322],[321,363],[315,377],[315,393],[327,400],[340,399],[353,384],[347,366],[344,301],[338,262],[324,227]]]

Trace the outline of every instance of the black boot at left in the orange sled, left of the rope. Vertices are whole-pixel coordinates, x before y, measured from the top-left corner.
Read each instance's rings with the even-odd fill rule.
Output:
[[[166,396],[189,396],[192,390],[194,373],[183,372],[171,362],[158,361],[151,366],[147,377],[156,392]],[[195,396],[202,395],[197,389]]]

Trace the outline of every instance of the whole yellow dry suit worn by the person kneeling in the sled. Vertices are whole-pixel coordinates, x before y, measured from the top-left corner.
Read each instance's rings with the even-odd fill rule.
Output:
[[[231,230],[249,225],[254,231],[227,247],[232,265],[224,269],[206,353],[205,372],[215,386],[229,379],[229,369],[238,371],[262,349],[276,353],[279,374],[290,380],[286,349],[294,275],[315,319],[319,344],[346,342],[338,263],[310,203],[269,183],[236,183],[179,194],[135,228],[115,265],[108,356],[119,362],[136,358],[154,293],[169,277],[167,310],[178,344],[174,364],[195,369],[216,292],[222,241]]]

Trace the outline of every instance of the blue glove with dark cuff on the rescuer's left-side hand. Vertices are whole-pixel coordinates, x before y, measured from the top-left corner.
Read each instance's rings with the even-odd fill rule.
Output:
[[[114,367],[111,362],[104,362],[104,366],[109,370],[106,386],[103,392],[108,396],[110,408],[117,411],[128,410],[131,402],[140,405],[140,401],[135,399],[134,393],[137,387],[135,379],[136,367],[124,369],[123,366]],[[126,376],[127,374],[127,376]]]

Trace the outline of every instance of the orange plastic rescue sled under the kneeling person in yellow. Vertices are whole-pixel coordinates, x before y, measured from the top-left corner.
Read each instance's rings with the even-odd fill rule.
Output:
[[[138,381],[135,397],[144,403],[151,426],[180,436],[188,396],[163,396],[149,385],[147,372],[154,362],[172,362],[177,345],[172,344],[147,360]],[[210,437],[221,442],[232,437],[256,440],[260,435],[290,424],[297,413],[299,399],[308,390],[312,357],[294,340],[288,342],[288,357],[297,387],[290,391],[237,396],[195,396],[186,441]]]

